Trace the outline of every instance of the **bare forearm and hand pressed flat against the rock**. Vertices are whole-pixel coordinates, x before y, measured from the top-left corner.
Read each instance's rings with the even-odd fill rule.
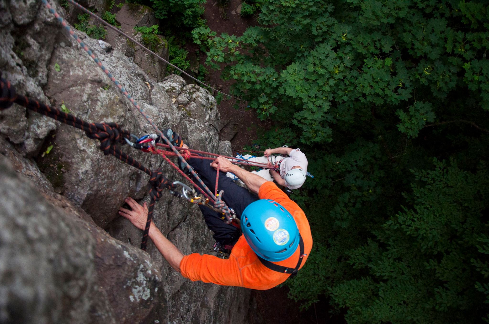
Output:
[[[130,220],[137,228],[144,230],[148,218],[148,206],[146,203],[143,203],[141,206],[131,197],[126,198],[125,202],[131,206],[132,210],[121,207],[119,209],[119,214]],[[168,261],[168,263],[170,263],[170,265],[179,273],[183,254],[178,250],[177,246],[168,241],[153,222],[151,222],[149,236],[163,258],[165,258],[166,261]]]

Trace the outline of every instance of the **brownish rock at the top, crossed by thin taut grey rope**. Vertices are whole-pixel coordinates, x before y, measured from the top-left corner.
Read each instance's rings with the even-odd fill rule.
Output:
[[[142,43],[141,33],[137,33],[134,27],[151,27],[159,25],[155,18],[153,9],[144,5],[126,3],[117,12],[115,19],[120,22],[120,30],[131,36],[134,40]],[[156,54],[168,61],[168,46],[164,37],[157,36],[160,44],[151,47]],[[134,61],[148,76],[154,81],[161,81],[165,74],[166,63],[148,54],[132,41],[119,35],[117,32],[108,29],[105,41],[110,43],[113,48],[123,53]]]

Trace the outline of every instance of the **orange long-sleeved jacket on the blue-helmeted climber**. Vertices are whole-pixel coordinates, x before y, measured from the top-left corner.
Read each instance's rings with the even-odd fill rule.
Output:
[[[258,192],[260,199],[272,199],[284,206],[294,217],[302,240],[304,253],[307,256],[302,261],[301,268],[307,261],[312,248],[311,228],[306,215],[299,206],[280,190],[273,182],[265,182]],[[299,247],[288,259],[275,262],[276,264],[295,268],[299,260]],[[229,259],[223,260],[213,255],[193,253],[185,256],[180,262],[180,273],[191,281],[239,286],[251,289],[266,290],[282,284],[290,274],[268,269],[263,265],[255,252],[241,235],[234,245]]]

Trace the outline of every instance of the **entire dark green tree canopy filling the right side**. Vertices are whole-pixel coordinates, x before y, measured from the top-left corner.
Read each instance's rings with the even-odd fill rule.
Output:
[[[489,1],[263,1],[192,32],[232,94],[298,146],[308,263],[286,283],[348,323],[489,322]]]

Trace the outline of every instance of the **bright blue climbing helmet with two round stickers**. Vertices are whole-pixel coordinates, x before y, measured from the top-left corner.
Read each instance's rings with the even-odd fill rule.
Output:
[[[271,199],[260,199],[244,209],[241,230],[253,251],[268,261],[289,258],[299,245],[299,229],[292,215]]]

